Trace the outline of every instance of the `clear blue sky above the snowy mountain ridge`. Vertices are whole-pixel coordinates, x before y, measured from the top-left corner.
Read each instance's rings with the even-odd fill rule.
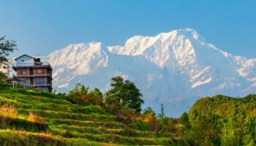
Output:
[[[135,35],[194,28],[234,55],[256,58],[256,1],[0,0],[0,36],[23,53],[48,55],[70,43],[123,45]]]

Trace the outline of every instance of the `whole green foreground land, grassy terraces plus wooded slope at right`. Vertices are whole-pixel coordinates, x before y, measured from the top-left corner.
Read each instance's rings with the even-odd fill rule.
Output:
[[[86,100],[91,96],[86,94]],[[217,95],[180,118],[113,113],[33,90],[0,91],[0,145],[256,145],[256,95]]]

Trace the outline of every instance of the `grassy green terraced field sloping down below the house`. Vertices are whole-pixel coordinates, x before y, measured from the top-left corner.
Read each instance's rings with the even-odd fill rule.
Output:
[[[0,145],[169,145],[168,134],[156,136],[116,121],[102,107],[83,107],[48,93],[1,91],[0,104],[18,112],[0,113]]]

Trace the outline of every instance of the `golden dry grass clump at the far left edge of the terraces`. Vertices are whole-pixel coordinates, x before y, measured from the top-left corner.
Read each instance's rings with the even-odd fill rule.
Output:
[[[12,103],[6,103],[0,107],[0,115],[4,117],[17,118],[18,112],[15,110],[15,105]]]

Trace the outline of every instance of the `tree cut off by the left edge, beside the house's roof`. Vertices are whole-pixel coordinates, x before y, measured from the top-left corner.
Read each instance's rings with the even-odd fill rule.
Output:
[[[7,40],[5,37],[0,37],[0,67],[7,69],[9,64],[8,56],[16,50],[16,44],[13,40]]]

